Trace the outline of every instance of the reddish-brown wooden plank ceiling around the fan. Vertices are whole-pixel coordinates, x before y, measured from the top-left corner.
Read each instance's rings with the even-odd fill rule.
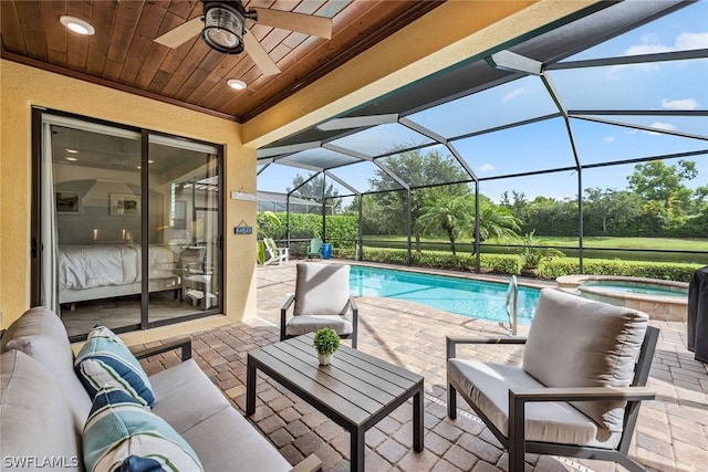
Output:
[[[281,73],[264,76],[246,53],[212,51],[201,38],[176,49],[153,40],[202,14],[198,0],[2,0],[2,57],[246,122],[365,51],[440,1],[251,0],[253,7],[332,18],[331,40],[256,24],[260,41]],[[61,15],[88,21],[81,36]],[[228,87],[228,78],[248,84]]]

